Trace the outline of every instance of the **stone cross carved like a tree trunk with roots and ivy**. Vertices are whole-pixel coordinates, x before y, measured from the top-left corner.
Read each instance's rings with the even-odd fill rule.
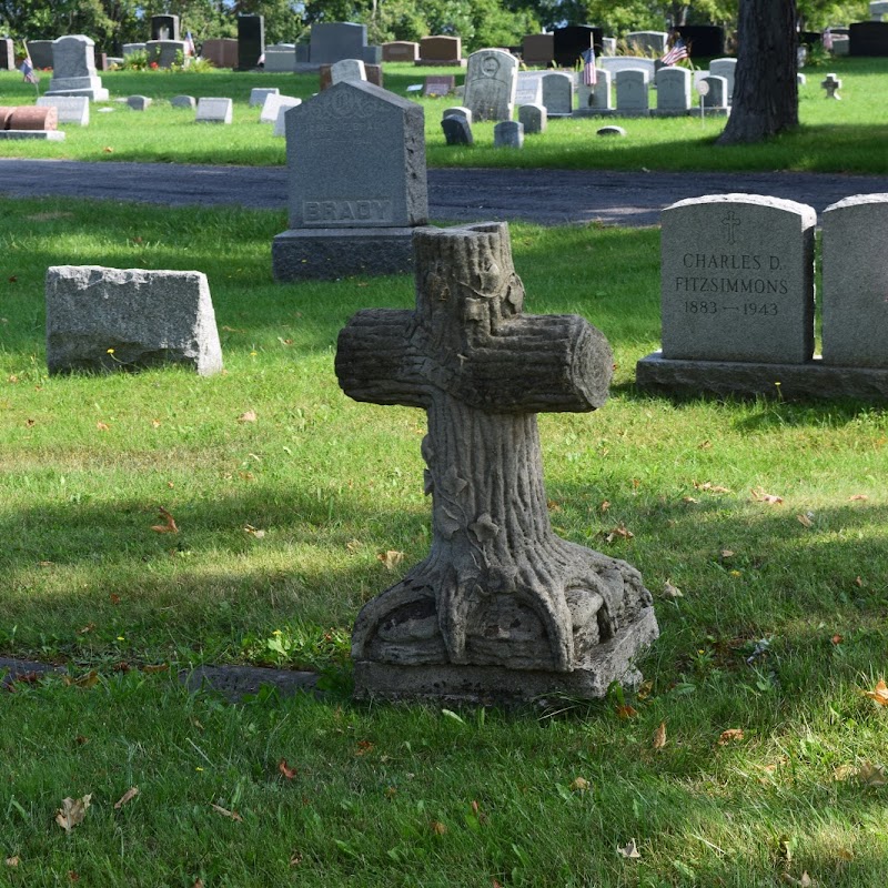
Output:
[[[555,535],[536,424],[605,402],[607,340],[576,315],[522,314],[505,223],[425,230],[414,250],[415,311],[359,312],[336,352],[347,395],[428,414],[432,548],[359,614],[355,693],[509,702],[639,680],[650,593]]]

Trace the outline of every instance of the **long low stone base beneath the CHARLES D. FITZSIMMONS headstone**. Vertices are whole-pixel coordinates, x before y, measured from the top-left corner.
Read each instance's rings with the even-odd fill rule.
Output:
[[[833,366],[817,357],[805,364],[773,364],[669,360],[655,352],[635,365],[635,384],[642,392],[690,397],[708,393],[781,401],[888,400],[888,370]]]

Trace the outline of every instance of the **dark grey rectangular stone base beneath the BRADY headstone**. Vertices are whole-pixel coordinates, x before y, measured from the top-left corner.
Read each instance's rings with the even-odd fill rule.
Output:
[[[272,272],[276,281],[411,274],[413,233],[423,228],[291,229],[272,241]]]

